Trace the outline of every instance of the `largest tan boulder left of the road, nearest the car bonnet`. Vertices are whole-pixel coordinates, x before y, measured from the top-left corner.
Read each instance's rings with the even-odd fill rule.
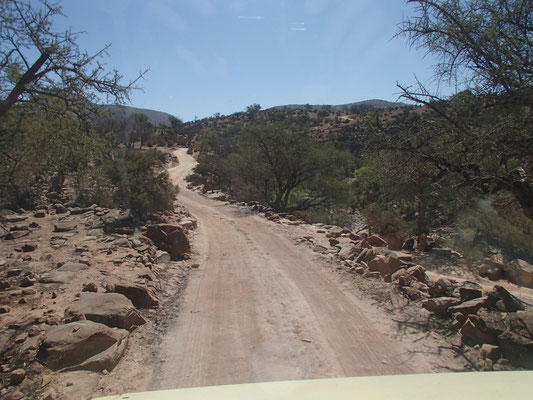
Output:
[[[37,359],[56,371],[111,371],[128,345],[128,331],[92,321],[48,328]]]

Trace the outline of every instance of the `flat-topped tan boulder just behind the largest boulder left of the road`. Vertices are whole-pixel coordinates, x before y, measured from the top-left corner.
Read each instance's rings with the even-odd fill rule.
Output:
[[[120,293],[82,293],[80,300],[67,309],[65,318],[68,321],[88,319],[122,329],[146,323],[132,302]]]

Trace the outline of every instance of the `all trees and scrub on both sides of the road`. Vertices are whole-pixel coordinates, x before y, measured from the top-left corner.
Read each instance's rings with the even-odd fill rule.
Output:
[[[190,181],[236,200],[341,225],[362,211],[384,234],[452,229],[447,237],[457,246],[529,250],[532,6],[409,3],[415,13],[396,40],[437,56],[435,79],[460,88],[452,96],[417,82],[398,84],[403,107],[252,104],[230,116],[154,126],[146,115],[118,119],[98,107],[127,101],[139,77],[123,84],[101,64],[107,48],[89,55],[78,35],[54,31],[46,22],[57,5],[4,2],[2,206],[32,208],[45,192],[69,188],[80,204],[131,208],[144,218],[175,196],[160,168],[164,154],[144,150],[190,145],[199,161]]]

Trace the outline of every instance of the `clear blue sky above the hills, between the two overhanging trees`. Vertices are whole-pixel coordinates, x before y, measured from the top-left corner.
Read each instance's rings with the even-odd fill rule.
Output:
[[[392,39],[403,0],[63,0],[79,43],[111,43],[109,68],[150,68],[134,107],[183,120],[259,103],[395,101],[396,81],[430,82],[423,51]]]

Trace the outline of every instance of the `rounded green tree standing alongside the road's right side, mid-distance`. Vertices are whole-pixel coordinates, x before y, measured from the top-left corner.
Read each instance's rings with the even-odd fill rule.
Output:
[[[305,132],[285,124],[257,124],[236,138],[236,151],[221,164],[235,191],[277,211],[342,205],[352,172],[348,153],[318,146]]]

